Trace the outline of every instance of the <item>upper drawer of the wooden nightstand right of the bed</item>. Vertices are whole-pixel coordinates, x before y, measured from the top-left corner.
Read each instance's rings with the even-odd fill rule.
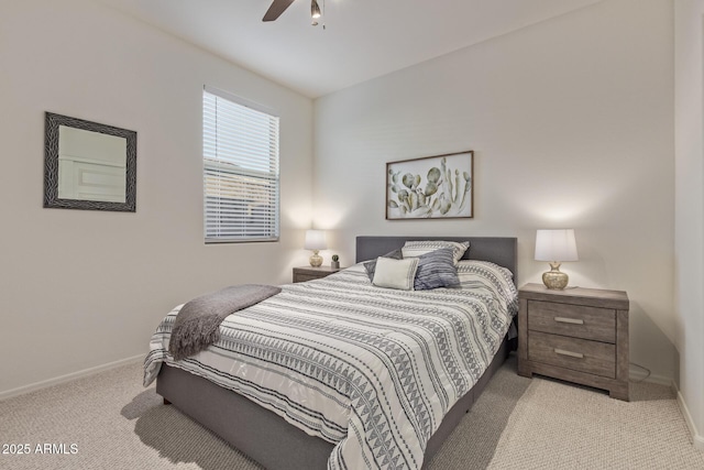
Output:
[[[616,310],[529,300],[528,329],[615,343]]]

